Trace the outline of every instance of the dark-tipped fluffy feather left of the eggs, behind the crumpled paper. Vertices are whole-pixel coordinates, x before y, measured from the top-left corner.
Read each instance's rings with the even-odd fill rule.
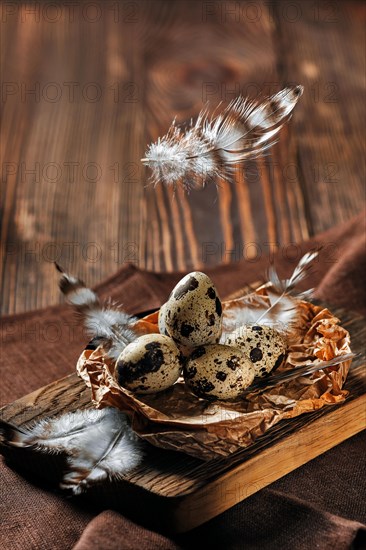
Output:
[[[137,338],[133,330],[137,318],[112,304],[103,306],[95,292],[87,288],[81,279],[55,265],[61,273],[61,292],[81,315],[88,334],[94,337],[96,343],[103,344],[111,359],[117,360],[123,349]]]

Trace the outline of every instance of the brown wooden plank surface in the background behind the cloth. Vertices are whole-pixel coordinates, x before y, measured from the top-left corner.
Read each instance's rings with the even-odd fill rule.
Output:
[[[362,2],[2,2],[1,311],[126,262],[188,270],[299,242],[364,204]],[[301,83],[280,141],[189,195],[148,185],[147,144],[242,93]]]

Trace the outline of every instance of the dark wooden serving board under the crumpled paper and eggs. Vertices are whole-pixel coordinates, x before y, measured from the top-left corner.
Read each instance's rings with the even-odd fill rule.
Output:
[[[123,481],[104,483],[74,497],[97,508],[114,508],[140,523],[166,532],[192,529],[249,497],[366,427],[365,319],[337,311],[351,334],[353,360],[343,405],[326,406],[281,421],[252,446],[230,458],[203,462],[146,444],[143,463]],[[90,390],[76,374],[3,407],[1,418],[21,426],[46,416],[90,407]],[[9,465],[56,488],[64,457],[1,447]]]

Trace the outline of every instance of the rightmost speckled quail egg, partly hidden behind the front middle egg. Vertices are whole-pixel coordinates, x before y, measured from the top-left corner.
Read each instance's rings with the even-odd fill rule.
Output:
[[[241,349],[250,358],[256,376],[265,376],[278,368],[286,353],[285,339],[268,326],[239,327],[226,338],[225,344]]]

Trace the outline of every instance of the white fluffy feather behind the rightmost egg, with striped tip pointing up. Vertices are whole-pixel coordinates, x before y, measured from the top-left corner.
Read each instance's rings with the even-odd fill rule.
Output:
[[[309,298],[312,294],[312,289],[298,294],[294,289],[307,276],[318,253],[318,250],[306,253],[289,279],[281,280],[271,266],[268,281],[270,284],[266,289],[269,303],[263,296],[254,293],[237,299],[237,307],[224,312],[227,332],[221,341],[224,341],[228,332],[244,325],[262,324],[284,333],[291,330],[296,324],[298,300]]]

